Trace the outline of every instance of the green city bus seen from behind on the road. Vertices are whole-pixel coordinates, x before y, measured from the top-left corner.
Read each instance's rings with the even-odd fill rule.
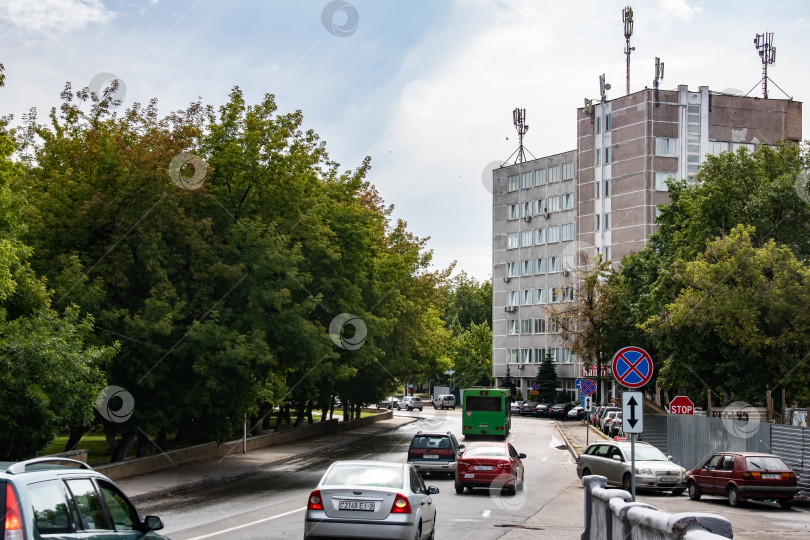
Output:
[[[509,390],[469,388],[464,390],[461,406],[463,435],[496,435],[504,439],[512,427]]]

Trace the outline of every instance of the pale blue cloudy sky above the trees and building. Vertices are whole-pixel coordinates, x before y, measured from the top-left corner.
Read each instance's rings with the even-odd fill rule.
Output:
[[[168,115],[201,100],[275,95],[301,110],[341,169],[368,180],[394,217],[430,237],[437,268],[492,271],[493,163],[524,143],[536,157],[576,148],[576,108],[600,74],[625,92],[625,1],[0,0],[0,115],[43,118],[66,82],[118,78],[123,106],[157,98]],[[652,86],[761,95],[754,36],[774,32],[770,78],[808,99],[810,3],[636,0],[631,92]],[[769,84],[770,97],[786,97]],[[802,133],[810,138],[805,115]],[[514,158],[513,158],[514,159]],[[510,161],[511,162],[511,161]],[[489,180],[489,182],[487,181]]]

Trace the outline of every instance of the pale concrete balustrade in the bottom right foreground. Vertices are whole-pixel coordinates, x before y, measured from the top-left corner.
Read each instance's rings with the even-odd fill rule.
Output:
[[[606,489],[604,476],[586,476],[582,540],[720,540],[733,538],[731,523],[703,512],[669,514],[649,504],[629,502],[622,489]]]

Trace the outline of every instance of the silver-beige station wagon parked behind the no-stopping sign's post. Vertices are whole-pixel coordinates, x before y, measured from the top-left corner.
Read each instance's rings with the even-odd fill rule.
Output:
[[[630,442],[601,441],[585,449],[577,459],[577,476],[598,474],[607,478],[608,485],[631,490]],[[680,495],[686,489],[686,470],[673,463],[658,448],[636,442],[636,487],[671,491]]]

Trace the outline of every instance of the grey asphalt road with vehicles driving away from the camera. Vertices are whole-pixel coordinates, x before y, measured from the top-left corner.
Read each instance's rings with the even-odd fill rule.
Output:
[[[166,524],[162,532],[172,540],[300,539],[307,497],[333,461],[404,462],[408,445],[419,430],[449,430],[460,435],[460,410],[425,409],[422,413],[395,414],[413,415],[420,420],[319,458],[262,471],[217,488],[145,501],[138,506],[144,514],[161,516]],[[509,441],[518,452],[527,455],[525,490],[515,496],[479,490],[457,495],[449,478],[427,477],[426,483],[440,490],[433,498],[437,505],[439,538],[499,538],[535,514],[570,485],[572,475],[576,476],[573,460],[550,421],[515,417],[512,427]]]

